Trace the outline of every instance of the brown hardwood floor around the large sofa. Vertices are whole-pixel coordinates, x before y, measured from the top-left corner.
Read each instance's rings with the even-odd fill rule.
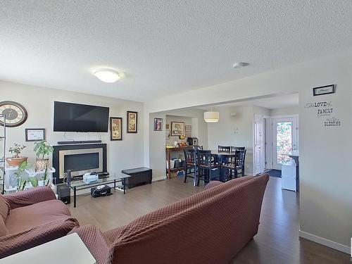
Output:
[[[153,182],[111,196],[77,196],[77,208],[70,211],[80,225],[97,225],[102,231],[127,225],[145,213],[196,194],[191,180],[173,178]],[[299,198],[294,191],[281,189],[281,178],[270,177],[265,191],[256,237],[234,257],[231,263],[350,263],[350,256],[306,239],[298,238]]]

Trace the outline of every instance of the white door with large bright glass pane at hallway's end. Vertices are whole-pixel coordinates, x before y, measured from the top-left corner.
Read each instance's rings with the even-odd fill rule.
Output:
[[[297,134],[297,118],[272,120],[272,168],[281,170],[281,165],[291,160],[284,154],[298,150]]]

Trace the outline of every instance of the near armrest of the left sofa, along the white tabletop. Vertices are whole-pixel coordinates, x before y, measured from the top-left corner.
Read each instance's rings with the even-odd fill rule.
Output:
[[[0,258],[63,237],[77,226],[79,224],[75,218],[62,218],[33,227],[30,230],[6,234],[0,237]]]

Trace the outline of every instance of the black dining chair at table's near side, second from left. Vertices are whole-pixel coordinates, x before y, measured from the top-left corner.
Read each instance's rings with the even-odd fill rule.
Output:
[[[200,180],[203,180],[205,183],[210,182],[210,180],[220,180],[219,165],[216,156],[213,156],[211,151],[198,151],[198,156],[199,174],[197,186],[199,186]]]

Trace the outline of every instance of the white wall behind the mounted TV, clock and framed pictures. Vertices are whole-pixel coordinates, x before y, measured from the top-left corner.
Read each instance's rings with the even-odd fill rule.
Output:
[[[112,99],[104,96],[93,96],[57,89],[33,87],[25,84],[0,82],[0,101],[16,101],[22,104],[28,112],[27,121],[19,127],[7,128],[7,146],[13,143],[24,144],[27,148],[23,156],[29,157],[34,163],[33,142],[25,142],[25,128],[45,128],[46,139],[56,145],[58,141],[65,141],[63,132],[53,132],[54,101],[68,101],[85,103],[96,106],[108,106],[110,116],[122,117],[122,141],[110,141],[110,132],[100,133],[103,143],[108,144],[108,171],[120,174],[121,170],[143,165],[143,103]],[[137,111],[138,133],[126,133],[126,111]],[[69,139],[88,140],[98,139],[97,133],[68,132]],[[7,156],[11,156],[7,153]]]

